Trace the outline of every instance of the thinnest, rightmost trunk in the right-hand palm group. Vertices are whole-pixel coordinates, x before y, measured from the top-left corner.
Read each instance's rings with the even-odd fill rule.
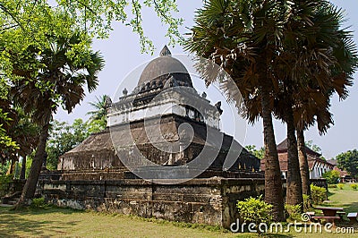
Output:
[[[308,166],[303,130],[297,130],[297,146],[298,146],[298,158],[300,161],[301,179],[303,182],[303,194],[310,196],[311,195],[310,168]]]

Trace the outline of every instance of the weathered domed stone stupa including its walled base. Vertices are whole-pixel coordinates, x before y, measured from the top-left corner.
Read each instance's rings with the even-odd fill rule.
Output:
[[[220,131],[221,114],[164,47],[132,92],[107,101],[107,129],[59,157],[38,191],[58,206],[228,227],[236,200],[262,193],[264,181],[260,160]]]

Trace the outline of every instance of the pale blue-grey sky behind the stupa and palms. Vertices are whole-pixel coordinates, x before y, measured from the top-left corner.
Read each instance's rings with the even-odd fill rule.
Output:
[[[357,0],[331,0],[332,3],[345,9],[346,26],[351,26],[350,30],[354,30],[355,42],[358,42],[358,8]],[[180,16],[184,19],[181,33],[187,33],[193,25],[193,17],[195,10],[202,5],[201,0],[177,0]],[[107,94],[110,97],[115,95],[116,88],[134,68],[148,62],[157,57],[160,49],[167,44],[168,39],[165,38],[166,28],[158,20],[158,17],[151,9],[144,9],[143,28],[146,36],[153,42],[157,50],[154,55],[141,54],[139,38],[128,27],[124,27],[122,23],[115,22],[114,30],[110,34],[110,38],[95,40],[93,48],[99,50],[106,60],[105,69],[99,73],[98,89],[92,93],[87,93],[86,98],[81,105],[76,106],[72,114],[68,115],[62,109],[59,109],[55,115],[55,119],[72,123],[76,118],[87,120],[89,118],[86,113],[91,110],[89,102],[95,101],[96,96]],[[183,54],[183,48],[180,46],[169,47],[172,54]],[[313,126],[305,133],[306,140],[313,140],[315,144],[320,146],[323,156],[326,158],[336,157],[337,154],[345,152],[349,149],[356,149],[358,125],[358,111],[356,110],[358,103],[358,74],[354,75],[354,86],[349,89],[350,96],[345,101],[339,101],[337,97],[331,99],[331,113],[334,115],[335,124],[328,130],[328,133],[320,136],[317,127]],[[115,100],[115,98],[112,98]],[[223,121],[225,123],[225,121]],[[226,125],[227,126],[227,125]],[[230,125],[228,125],[230,126]],[[225,126],[224,126],[225,127]],[[247,126],[246,139],[244,145],[256,145],[260,148],[263,145],[263,129],[262,121],[255,123],[253,126]],[[230,133],[230,132],[228,132]],[[277,144],[286,138],[286,125],[275,121],[275,134]],[[242,141],[242,140],[239,140]]]

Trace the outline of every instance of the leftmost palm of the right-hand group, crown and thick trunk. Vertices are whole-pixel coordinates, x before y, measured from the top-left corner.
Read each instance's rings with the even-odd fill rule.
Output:
[[[279,24],[286,12],[285,4],[277,1],[207,1],[197,12],[192,38],[185,45],[192,53],[222,65],[231,75],[243,95],[243,115],[251,123],[262,117],[265,200],[273,205],[273,217],[277,221],[284,220],[284,196],[272,124],[273,96],[278,82],[271,73],[270,63],[283,35]],[[210,82],[208,78],[205,80]]]

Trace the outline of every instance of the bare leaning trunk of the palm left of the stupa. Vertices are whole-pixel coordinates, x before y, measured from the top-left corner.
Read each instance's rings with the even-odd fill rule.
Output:
[[[16,204],[16,208],[28,204],[31,199],[33,199],[36,191],[36,186],[38,185],[38,175],[41,171],[41,166],[44,161],[46,143],[48,138],[48,128],[50,120],[47,119],[47,122],[41,129],[41,133],[38,139],[38,147],[36,148],[35,157],[32,160],[32,165],[30,167],[30,174],[26,180],[25,186],[23,187],[21,198]]]

